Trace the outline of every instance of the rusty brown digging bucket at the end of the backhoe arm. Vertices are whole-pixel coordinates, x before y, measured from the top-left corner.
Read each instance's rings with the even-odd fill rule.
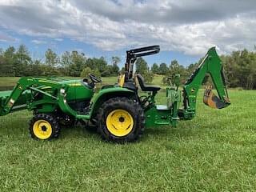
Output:
[[[206,106],[210,106],[214,109],[222,109],[230,105],[230,102],[223,102],[220,98],[218,98],[214,94],[211,86],[206,87],[206,91],[203,96],[203,102],[206,104]]]

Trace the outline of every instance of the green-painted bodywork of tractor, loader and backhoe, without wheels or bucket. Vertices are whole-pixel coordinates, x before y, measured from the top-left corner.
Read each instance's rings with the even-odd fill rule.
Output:
[[[149,93],[149,106],[144,108],[146,127],[176,126],[179,119],[192,119],[196,111],[198,89],[206,74],[210,74],[219,98],[226,102],[222,62],[214,48],[208,50],[202,64],[188,79],[183,90],[178,85],[166,88],[166,105],[155,104],[157,93]],[[52,78],[20,78],[12,91],[0,92],[0,116],[15,110],[34,110],[38,113],[62,113],[77,119],[92,120],[103,102],[109,98],[138,98],[134,90],[121,86],[103,86],[98,94],[82,80],[63,81]],[[85,111],[78,111],[72,103],[88,103]]]

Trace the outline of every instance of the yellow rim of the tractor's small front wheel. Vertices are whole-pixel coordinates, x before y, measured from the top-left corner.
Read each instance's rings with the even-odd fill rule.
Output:
[[[37,122],[34,122],[33,132],[37,138],[47,139],[50,138],[53,130],[50,122],[47,122],[46,120],[38,120]]]

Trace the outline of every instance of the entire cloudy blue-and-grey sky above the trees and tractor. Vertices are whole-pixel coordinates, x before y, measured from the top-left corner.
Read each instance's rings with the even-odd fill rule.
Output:
[[[126,50],[160,45],[150,65],[187,66],[211,46],[254,50],[255,26],[255,0],[0,0],[0,47],[24,44],[39,59],[50,48],[124,62]]]

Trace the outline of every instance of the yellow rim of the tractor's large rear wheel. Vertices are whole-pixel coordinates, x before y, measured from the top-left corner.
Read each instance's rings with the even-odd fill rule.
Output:
[[[106,127],[114,136],[123,137],[130,134],[134,119],[126,110],[113,110],[106,117]]]

